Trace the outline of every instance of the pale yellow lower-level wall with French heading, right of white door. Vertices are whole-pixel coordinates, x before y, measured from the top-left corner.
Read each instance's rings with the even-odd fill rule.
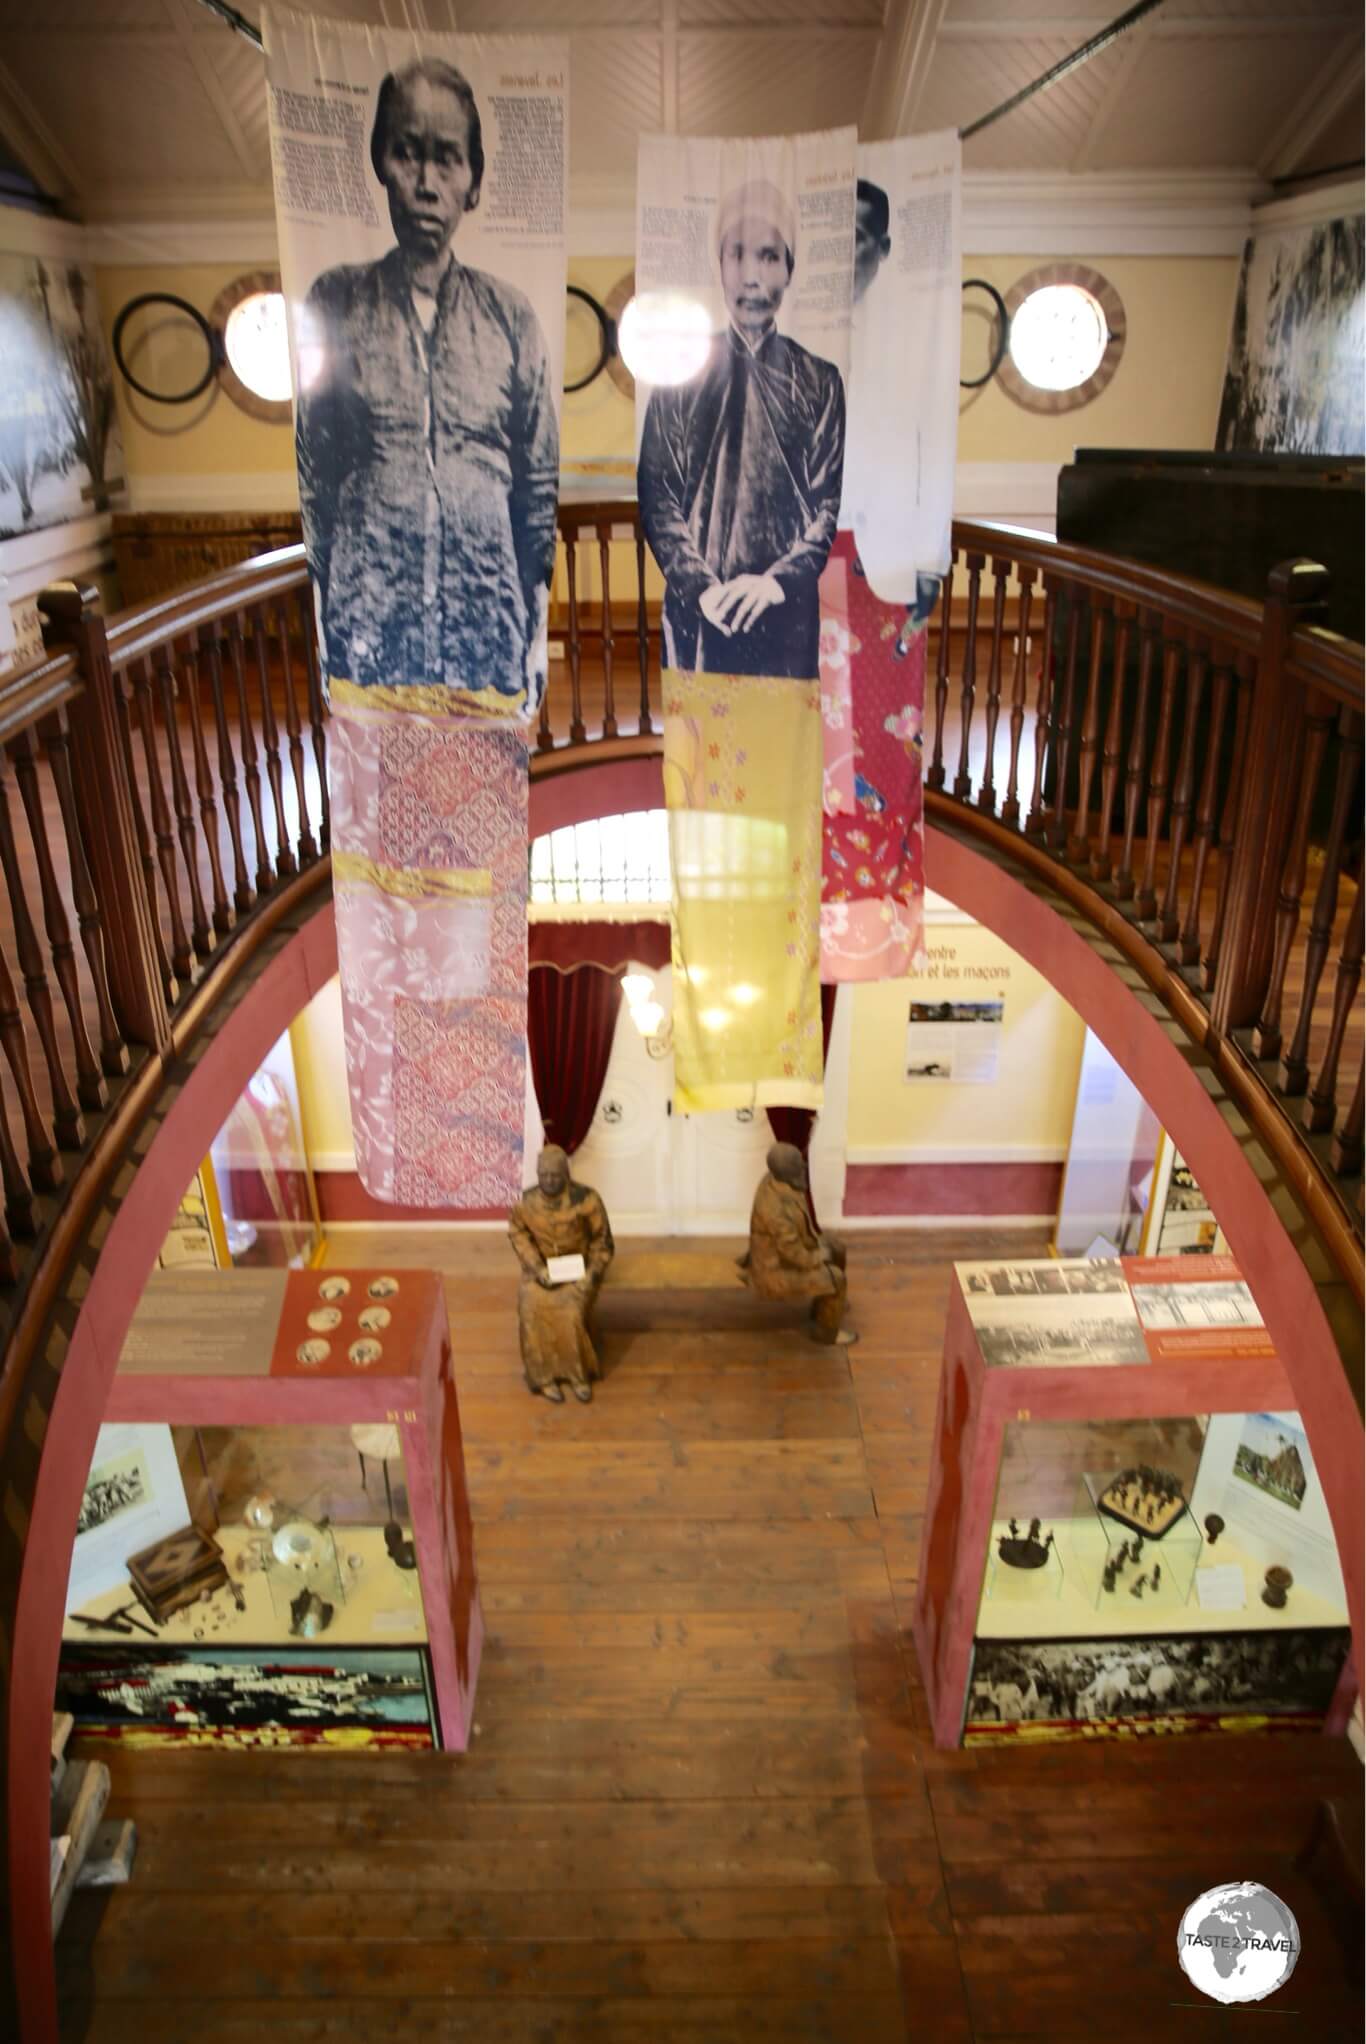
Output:
[[[849,1155],[855,1163],[953,1153],[963,1161],[1067,1151],[1086,1024],[1033,965],[980,924],[932,924],[912,979],[855,987]],[[1000,1075],[990,1085],[906,1079],[910,1002],[1004,1000]]]

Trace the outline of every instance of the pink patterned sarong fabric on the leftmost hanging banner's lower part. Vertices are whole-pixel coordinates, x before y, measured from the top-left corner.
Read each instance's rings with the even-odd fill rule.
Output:
[[[327,781],[360,1179],[401,1206],[511,1206],[526,1122],[526,736],[333,707]]]

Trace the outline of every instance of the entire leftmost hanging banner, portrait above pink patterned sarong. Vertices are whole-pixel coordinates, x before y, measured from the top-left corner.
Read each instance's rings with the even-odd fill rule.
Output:
[[[380,1200],[505,1206],[521,1190],[568,45],[274,6],[262,27],[356,1165]]]

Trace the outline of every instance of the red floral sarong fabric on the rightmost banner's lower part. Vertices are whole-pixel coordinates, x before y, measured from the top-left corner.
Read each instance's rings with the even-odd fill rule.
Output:
[[[924,963],[920,748],[937,580],[881,603],[843,531],[820,578],[824,834],[820,977],[900,979]]]

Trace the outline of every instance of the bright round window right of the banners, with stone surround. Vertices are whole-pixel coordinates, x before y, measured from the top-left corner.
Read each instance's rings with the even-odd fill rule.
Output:
[[[1027,411],[1090,405],[1114,376],[1125,347],[1125,307],[1098,270],[1049,264],[1006,292],[1010,345],[1006,392]]]

